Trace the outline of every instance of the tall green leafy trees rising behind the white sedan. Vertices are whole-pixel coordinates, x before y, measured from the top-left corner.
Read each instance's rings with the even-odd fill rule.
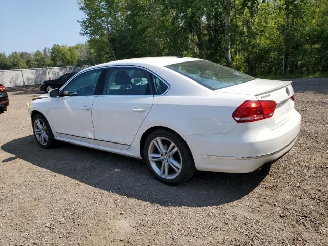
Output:
[[[184,54],[225,64],[226,0],[81,0],[95,63]],[[328,70],[327,0],[231,0],[232,66],[249,74]]]

